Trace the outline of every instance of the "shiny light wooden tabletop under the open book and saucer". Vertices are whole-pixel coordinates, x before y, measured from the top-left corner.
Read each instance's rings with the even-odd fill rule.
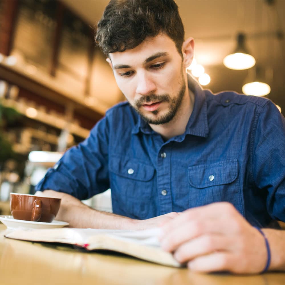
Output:
[[[0,223],[1,285],[277,285],[285,273],[253,276],[194,274],[112,253],[86,253],[68,246],[7,239]]]

